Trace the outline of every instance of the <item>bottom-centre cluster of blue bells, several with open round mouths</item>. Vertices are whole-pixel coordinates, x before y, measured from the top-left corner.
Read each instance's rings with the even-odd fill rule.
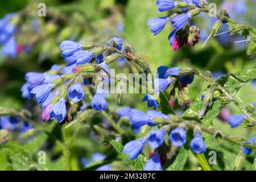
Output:
[[[144,125],[156,126],[163,122],[168,122],[171,119],[158,111],[150,110],[147,113],[143,113],[137,109],[131,109],[130,107],[123,107],[119,109],[118,114],[121,117],[129,118],[132,126],[142,127]],[[178,127],[171,131],[169,140],[172,146],[181,147],[187,142],[187,132],[183,127]],[[151,130],[147,137],[136,139],[128,142],[123,147],[123,152],[129,155],[131,160],[136,159],[141,154],[144,145],[147,143],[152,150],[155,150],[151,155],[151,158],[144,166],[144,170],[148,171],[160,171],[164,164],[164,156],[158,152],[158,148],[164,144],[164,138],[168,134],[168,131],[163,129]],[[195,154],[201,154],[205,152],[206,146],[201,133],[195,132],[195,137],[190,142],[190,147]]]

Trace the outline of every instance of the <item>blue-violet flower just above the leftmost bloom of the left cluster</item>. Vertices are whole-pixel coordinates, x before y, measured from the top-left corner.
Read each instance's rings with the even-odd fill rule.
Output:
[[[25,75],[25,79],[27,80],[27,83],[30,85],[29,88],[33,89],[35,86],[42,84],[42,82],[44,81],[44,75],[43,73],[28,72]]]

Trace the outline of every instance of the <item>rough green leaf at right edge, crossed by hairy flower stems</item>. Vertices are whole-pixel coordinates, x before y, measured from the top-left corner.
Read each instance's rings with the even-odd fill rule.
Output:
[[[220,84],[224,89],[228,90],[231,94],[236,94],[240,88],[246,84],[246,82],[256,78],[256,69],[247,69],[245,71],[239,71],[236,73],[231,73],[229,75],[222,76],[216,82]],[[208,88],[204,89],[196,98],[193,105],[185,111],[183,114],[184,119],[188,120],[198,120],[197,115],[199,114],[201,107],[203,107],[203,100],[201,96],[205,93]],[[217,99],[214,100],[212,106],[208,108],[205,113],[204,119],[202,119],[203,126],[210,127],[213,123],[213,118],[215,118],[218,113],[226,105],[225,102]]]

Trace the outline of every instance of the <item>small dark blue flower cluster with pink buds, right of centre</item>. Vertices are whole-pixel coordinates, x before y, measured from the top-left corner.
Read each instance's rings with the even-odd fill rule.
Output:
[[[178,89],[177,100],[180,107],[185,109],[187,104],[191,104],[187,88],[187,85],[191,84],[195,77],[192,75],[191,69],[161,66],[158,68],[157,74],[158,77],[155,79],[155,84],[158,86],[155,88],[155,93],[159,94],[160,91],[165,92],[172,85],[172,89],[169,94],[169,104],[174,107],[176,88]],[[148,107],[153,107],[154,109],[157,109],[159,106],[159,101],[151,94],[146,94],[143,101],[147,102]]]

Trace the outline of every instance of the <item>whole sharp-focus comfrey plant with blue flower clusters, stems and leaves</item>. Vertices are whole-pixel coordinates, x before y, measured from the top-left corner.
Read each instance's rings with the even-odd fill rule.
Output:
[[[150,31],[157,35],[171,22],[174,30],[168,39],[174,51],[184,45],[195,46],[199,42],[199,27],[190,26],[189,22],[200,13],[210,13],[218,17],[210,35],[217,35],[221,25],[227,23],[232,35],[241,34],[249,40],[247,54],[251,57],[255,55],[255,29],[246,23],[238,24],[230,19],[228,11],[224,9],[220,14],[213,14],[204,0],[159,0],[156,6],[158,11],[168,11],[170,14],[152,18],[146,24],[150,25]],[[227,105],[232,105],[240,111],[237,115],[226,117],[231,129],[256,126],[255,106],[243,103],[237,96],[238,90],[246,82],[255,80],[256,69],[218,76],[212,76],[209,71],[201,73],[190,67],[166,65],[159,65],[157,70],[152,71],[146,60],[117,37],[111,38],[105,44],[64,40],[59,48],[67,65],[53,65],[44,73],[28,72],[21,92],[23,98],[35,98],[40,105],[42,117],[38,120],[56,120],[57,122],[53,123],[62,124],[60,127],[63,141],[35,122],[35,116],[27,110],[19,113],[0,108],[0,115],[4,115],[1,117],[0,127],[3,130],[17,129],[23,133],[23,137],[24,133],[25,136],[31,137],[36,131],[43,131],[63,151],[66,169],[71,169],[69,148],[72,146],[72,140],[84,125],[79,126],[69,142],[65,141],[64,128],[67,129],[75,123],[89,122],[89,119],[96,115],[103,116],[105,120],[104,123],[90,125],[94,133],[103,137],[104,143],[110,143],[119,158],[126,159],[134,170],[183,169],[189,151],[196,156],[204,170],[212,170],[205,156],[207,150],[214,147],[211,140],[223,140],[232,147],[240,147],[233,169],[241,170],[245,167],[246,156],[256,149],[255,135],[251,134],[253,136],[250,139],[229,136],[213,127],[214,118]],[[111,72],[110,67],[114,63],[124,61],[127,62],[130,72],[137,71],[141,74],[137,82],[134,81],[135,78],[130,80]],[[156,75],[152,76],[152,72],[156,72]],[[143,76],[146,77],[145,80]],[[195,100],[191,100],[188,85],[193,85],[195,79],[205,81],[209,85],[197,94]],[[115,104],[109,104],[113,84],[115,104],[129,102],[124,102],[127,85],[146,90],[141,101],[135,98],[137,102],[146,102],[142,103],[147,105],[144,111],[129,106],[120,107],[115,111]],[[20,128],[16,127],[18,123]],[[23,128],[23,124],[26,127]],[[6,142],[7,140],[4,140],[2,143]],[[108,156],[96,153],[90,162],[83,158],[81,163],[86,169],[109,170],[111,167],[106,166],[109,161]],[[255,166],[256,162],[254,168]]]

